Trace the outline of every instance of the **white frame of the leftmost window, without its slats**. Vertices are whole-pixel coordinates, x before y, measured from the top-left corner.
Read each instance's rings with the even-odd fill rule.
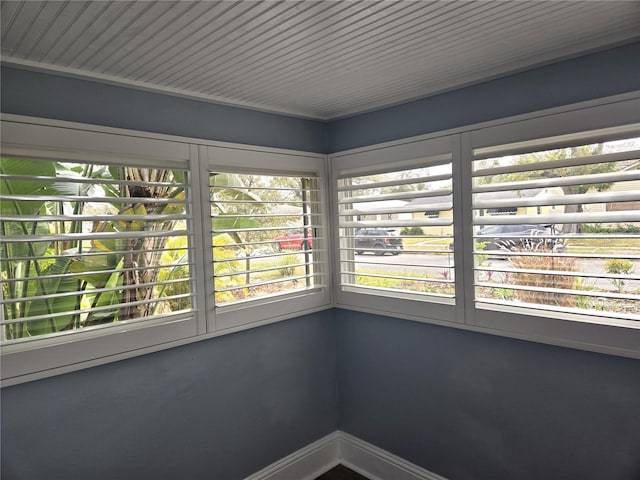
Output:
[[[193,161],[193,152],[183,143],[71,129],[48,122],[12,120],[5,118],[2,121],[3,155],[107,163],[114,159],[131,159],[150,167],[157,167],[159,163],[167,167],[172,164],[185,167]],[[196,245],[190,248],[194,251],[197,237],[197,232],[193,232]],[[198,300],[193,298],[194,305],[187,313],[2,345],[3,385],[17,383],[23,378],[47,376],[70,365],[191,338],[201,330]]]

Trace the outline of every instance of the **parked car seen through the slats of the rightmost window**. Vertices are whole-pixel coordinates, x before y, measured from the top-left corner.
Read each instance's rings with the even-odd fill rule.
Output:
[[[565,251],[564,241],[553,225],[487,225],[478,230],[476,242],[481,245],[482,250]],[[449,249],[453,250],[453,242]]]

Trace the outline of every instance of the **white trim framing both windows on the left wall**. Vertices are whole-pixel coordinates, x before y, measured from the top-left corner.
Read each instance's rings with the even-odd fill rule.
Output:
[[[108,329],[95,329],[28,342],[2,345],[2,386],[59,375],[95,365],[218,337],[247,328],[298,317],[332,307],[331,288],[326,286],[295,295],[284,295],[270,302],[247,302],[240,308],[216,315],[212,289],[208,289],[207,252],[211,255],[208,175],[198,175],[208,167],[209,158],[220,165],[244,165],[248,170],[289,173],[304,170],[315,173],[326,197],[327,161],[325,155],[275,148],[210,142],[191,138],[156,135],[72,122],[3,115],[2,153],[19,153],[36,158],[65,158],[109,161],[114,158],[147,159],[153,166],[190,165],[194,231],[192,264],[195,271],[193,309],[186,314],[169,315],[138,323],[123,322]],[[265,162],[265,158],[269,162]],[[304,167],[304,168],[302,168]],[[198,219],[206,218],[206,222]],[[326,209],[322,212],[326,223]],[[328,227],[328,225],[327,225]],[[328,228],[326,229],[328,230]],[[327,233],[328,238],[328,233]],[[207,240],[208,239],[208,240]],[[315,239],[314,239],[315,241]],[[322,240],[319,240],[322,243]],[[319,244],[329,252],[325,244]],[[329,285],[328,253],[318,267]]]

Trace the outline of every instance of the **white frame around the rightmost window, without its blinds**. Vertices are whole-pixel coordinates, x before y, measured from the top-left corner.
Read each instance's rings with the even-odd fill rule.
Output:
[[[557,137],[604,130],[626,125],[638,125],[640,100],[612,101],[594,106],[573,108],[561,113],[540,114],[534,118],[518,119],[462,133],[464,156],[462,159],[462,191],[464,224],[473,225],[472,218],[472,161],[476,149],[491,149],[494,145],[514,145],[516,150],[527,142],[536,149],[563,146]],[[590,137],[590,135],[585,135]],[[607,137],[603,137],[603,140]],[[548,139],[546,143],[540,139]],[[503,152],[508,152],[504,149]],[[502,154],[502,152],[501,152]],[[473,279],[472,228],[465,232],[464,264]],[[472,282],[467,286],[473,290]],[[600,353],[640,358],[640,321],[612,321],[590,317],[587,314],[548,312],[523,313],[509,305],[482,308],[469,295],[465,305],[466,324],[490,333],[533,340],[542,343],[579,348]]]

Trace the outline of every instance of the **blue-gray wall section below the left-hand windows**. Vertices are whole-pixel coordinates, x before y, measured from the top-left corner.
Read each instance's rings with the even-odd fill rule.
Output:
[[[337,428],[326,311],[2,390],[6,480],[239,480]]]

